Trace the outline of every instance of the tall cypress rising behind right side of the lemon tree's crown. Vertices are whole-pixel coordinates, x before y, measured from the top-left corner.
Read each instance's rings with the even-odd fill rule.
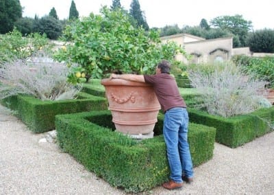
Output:
[[[149,30],[149,25],[145,19],[145,14],[143,14],[140,10],[140,3],[138,0],[132,0],[129,14],[136,19],[138,26],[142,26],[145,30]]]

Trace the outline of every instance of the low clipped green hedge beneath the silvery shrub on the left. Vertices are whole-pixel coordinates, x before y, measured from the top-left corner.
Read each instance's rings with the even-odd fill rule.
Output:
[[[108,101],[105,98],[87,93],[79,93],[78,96],[80,99],[42,101],[32,96],[16,95],[5,98],[1,104],[16,111],[16,117],[21,119],[29,130],[43,133],[55,128],[55,115],[108,108]]]

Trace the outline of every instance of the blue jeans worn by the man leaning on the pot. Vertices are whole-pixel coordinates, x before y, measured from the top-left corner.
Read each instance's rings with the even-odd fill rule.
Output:
[[[175,107],[164,114],[164,141],[171,170],[171,180],[182,182],[182,174],[193,176],[192,159],[188,145],[188,112]]]

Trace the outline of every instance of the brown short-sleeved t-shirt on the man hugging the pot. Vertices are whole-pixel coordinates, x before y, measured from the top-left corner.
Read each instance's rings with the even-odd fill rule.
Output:
[[[186,108],[186,103],[179,94],[176,80],[171,75],[168,73],[158,73],[155,75],[144,75],[144,78],[145,82],[153,85],[162,111],[166,112],[174,107]]]

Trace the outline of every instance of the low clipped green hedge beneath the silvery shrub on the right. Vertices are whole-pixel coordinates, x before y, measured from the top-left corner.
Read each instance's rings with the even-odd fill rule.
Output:
[[[216,128],[216,142],[236,148],[273,130],[274,106],[247,115],[218,117],[189,108],[190,122]]]

